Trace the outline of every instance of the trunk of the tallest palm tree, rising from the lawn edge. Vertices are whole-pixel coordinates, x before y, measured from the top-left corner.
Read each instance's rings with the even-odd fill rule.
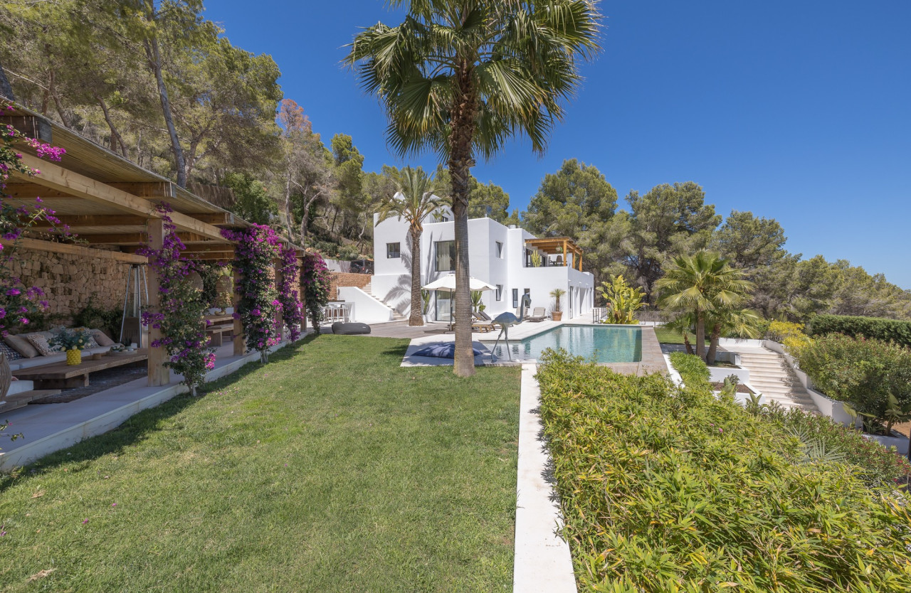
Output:
[[[471,62],[459,60],[458,92],[452,107],[449,136],[449,176],[452,180],[455,223],[455,374],[475,374],[471,347],[471,291],[468,279],[468,195],[471,187],[472,139],[475,136],[477,95],[471,80]]]

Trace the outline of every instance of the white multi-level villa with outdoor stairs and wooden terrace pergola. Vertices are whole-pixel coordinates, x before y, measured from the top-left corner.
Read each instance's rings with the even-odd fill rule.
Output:
[[[421,286],[455,270],[455,223],[452,212],[441,208],[425,220],[421,236]],[[374,277],[364,289],[340,286],[339,298],[353,303],[357,321],[376,323],[407,317],[411,308],[411,239],[408,223],[388,218],[375,224]],[[582,272],[582,250],[568,237],[538,239],[515,225],[490,218],[468,220],[468,266],[471,276],[496,291],[484,293],[485,312],[496,317],[516,312],[520,295],[531,296],[531,307],[555,308],[549,294],[562,288],[564,319],[588,315],[594,306],[594,276]],[[538,258],[538,256],[540,256]],[[536,266],[537,264],[537,266]],[[448,321],[453,307],[450,293],[435,291],[427,320]]]

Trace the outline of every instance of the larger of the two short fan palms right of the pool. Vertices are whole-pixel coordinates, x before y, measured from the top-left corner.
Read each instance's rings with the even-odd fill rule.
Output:
[[[655,282],[662,307],[690,311],[696,323],[696,355],[705,357],[705,321],[711,313],[742,303],[753,284],[717,253],[699,251],[678,256],[663,278]]]

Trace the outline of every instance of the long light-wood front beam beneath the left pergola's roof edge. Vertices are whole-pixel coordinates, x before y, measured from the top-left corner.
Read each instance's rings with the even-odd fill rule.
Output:
[[[156,210],[148,200],[129,194],[117,187],[96,181],[87,176],[79,175],[62,166],[43,161],[36,156],[23,155],[22,162],[24,165],[33,169],[40,169],[41,174],[34,177],[26,177],[14,173],[14,176],[17,178],[34,181],[41,186],[50,187],[57,191],[68,192],[73,196],[105,204],[126,214],[146,216],[147,218],[161,217],[159,211]],[[174,226],[177,226],[181,230],[198,233],[202,236],[228,243],[228,241],[221,236],[221,231],[217,226],[201,222],[200,220],[179,212],[171,212],[169,217],[174,223]]]

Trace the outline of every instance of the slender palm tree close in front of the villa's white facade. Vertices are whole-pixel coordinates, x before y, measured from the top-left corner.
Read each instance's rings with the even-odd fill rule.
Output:
[[[408,223],[408,236],[411,238],[411,316],[408,317],[408,325],[423,326],[421,234],[424,232],[424,219],[443,206],[443,199],[435,196],[438,191],[435,178],[427,176],[421,167],[413,169],[406,166],[394,172],[392,177],[398,191],[380,205],[377,224],[389,216],[403,218]]]

